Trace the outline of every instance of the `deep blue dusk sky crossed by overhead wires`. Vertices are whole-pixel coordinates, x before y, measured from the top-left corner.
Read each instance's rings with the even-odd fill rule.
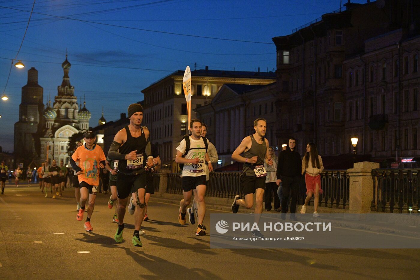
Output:
[[[2,7],[22,10],[0,7],[1,94],[32,4],[31,0],[0,0]],[[13,151],[13,127],[27,71],[38,70],[44,103],[49,95],[53,101],[63,78],[66,48],[72,64],[71,85],[79,102],[86,96],[94,127],[102,106],[107,121],[119,119],[130,103],[143,100],[142,89],[186,65],[192,70],[197,63],[197,69],[255,71],[260,66],[260,71],[273,71],[272,37],[290,34],[339,6],[339,0],[37,0],[17,58],[26,67],[13,66],[5,90],[9,100],[0,100],[0,145],[3,151]]]

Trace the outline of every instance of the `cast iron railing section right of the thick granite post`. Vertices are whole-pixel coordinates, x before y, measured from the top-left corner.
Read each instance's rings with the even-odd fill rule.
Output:
[[[371,210],[418,213],[420,169],[373,169]]]

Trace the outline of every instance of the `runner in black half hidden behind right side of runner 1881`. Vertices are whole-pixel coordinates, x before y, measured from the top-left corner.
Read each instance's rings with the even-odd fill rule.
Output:
[[[147,127],[146,127],[147,128]],[[146,195],[144,200],[146,201],[146,207],[144,210],[144,219],[143,221],[146,222],[149,220],[149,218],[147,217],[147,206],[150,200],[150,195],[155,193],[155,185],[153,184],[153,172],[159,172],[160,169],[160,164],[162,163],[160,161],[160,157],[159,157],[159,151],[157,151],[157,147],[155,144],[150,143],[150,148],[152,149],[152,156],[153,156],[153,165],[154,167],[152,168],[147,168],[144,167],[144,171],[146,172]],[[134,197],[132,197],[130,199],[130,204],[128,207],[129,213],[133,214],[134,213]],[[146,232],[144,232],[144,230],[142,230],[140,228],[140,234],[145,234]]]

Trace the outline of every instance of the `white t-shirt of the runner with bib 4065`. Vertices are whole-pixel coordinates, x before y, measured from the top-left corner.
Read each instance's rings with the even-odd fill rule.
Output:
[[[184,169],[182,169],[182,177],[184,176],[190,176],[190,177],[198,177],[201,175],[205,175],[205,156],[206,156],[206,146],[204,144],[203,138],[200,137],[200,140],[194,140],[192,137],[189,137],[189,151],[184,156],[187,159],[192,158],[199,158],[200,161],[198,164],[184,164]],[[207,140],[208,145],[208,140]],[[186,142],[185,139],[182,139],[181,143],[179,143],[179,146],[176,148],[176,150],[180,151],[182,154],[185,153],[186,149]]]

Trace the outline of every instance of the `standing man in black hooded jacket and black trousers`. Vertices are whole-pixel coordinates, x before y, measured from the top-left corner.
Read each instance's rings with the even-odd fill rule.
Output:
[[[277,185],[280,185],[280,182],[283,185],[283,197],[281,199],[281,213],[283,214],[283,219],[285,217],[284,214],[287,212],[287,200],[291,190],[290,217],[292,220],[296,220],[294,213],[296,212],[297,195],[299,193],[300,177],[302,176],[302,158],[300,158],[300,154],[295,148],[296,139],[290,137],[288,148],[281,151],[278,156],[276,180]]]

